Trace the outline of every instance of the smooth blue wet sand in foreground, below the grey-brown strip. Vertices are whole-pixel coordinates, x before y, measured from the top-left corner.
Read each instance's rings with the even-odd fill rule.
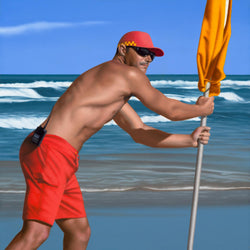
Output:
[[[116,201],[113,201],[116,204]],[[187,206],[127,206],[88,208],[92,250],[186,249],[190,208]],[[194,249],[248,250],[250,205],[200,206]],[[21,212],[0,217],[0,249],[22,225]],[[39,249],[62,249],[63,234],[55,224]]]

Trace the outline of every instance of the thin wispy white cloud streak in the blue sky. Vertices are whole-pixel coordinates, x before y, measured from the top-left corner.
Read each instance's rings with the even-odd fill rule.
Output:
[[[102,25],[105,23],[107,22],[105,21],[86,21],[86,22],[78,22],[78,23],[35,22],[35,23],[27,23],[27,24],[22,24],[22,25],[17,25],[17,26],[0,27],[0,35],[1,36],[21,35],[21,34],[28,33],[28,32],[37,32],[37,31],[44,31],[44,30],[77,27],[77,26],[94,26],[94,25]]]

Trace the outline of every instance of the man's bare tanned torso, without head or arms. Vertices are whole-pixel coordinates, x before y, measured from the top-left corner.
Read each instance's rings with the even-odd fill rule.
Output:
[[[128,101],[129,71],[137,70],[112,60],[80,75],[56,102],[47,133],[66,139],[79,151]]]

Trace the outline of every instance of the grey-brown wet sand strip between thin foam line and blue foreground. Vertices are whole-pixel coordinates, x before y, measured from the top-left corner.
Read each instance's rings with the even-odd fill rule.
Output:
[[[114,192],[84,193],[85,208],[175,208],[192,206],[193,192]],[[24,193],[0,193],[0,218],[16,217],[22,214]],[[250,206],[250,190],[200,191],[199,207],[241,207]]]

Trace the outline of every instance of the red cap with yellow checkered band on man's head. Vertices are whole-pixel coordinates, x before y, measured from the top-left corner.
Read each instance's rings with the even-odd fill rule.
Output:
[[[118,46],[120,44],[124,44],[126,46],[147,48],[153,53],[155,53],[155,56],[164,55],[163,50],[161,50],[160,48],[154,47],[150,35],[146,32],[142,32],[142,31],[128,32],[121,38],[121,40],[118,43]]]

